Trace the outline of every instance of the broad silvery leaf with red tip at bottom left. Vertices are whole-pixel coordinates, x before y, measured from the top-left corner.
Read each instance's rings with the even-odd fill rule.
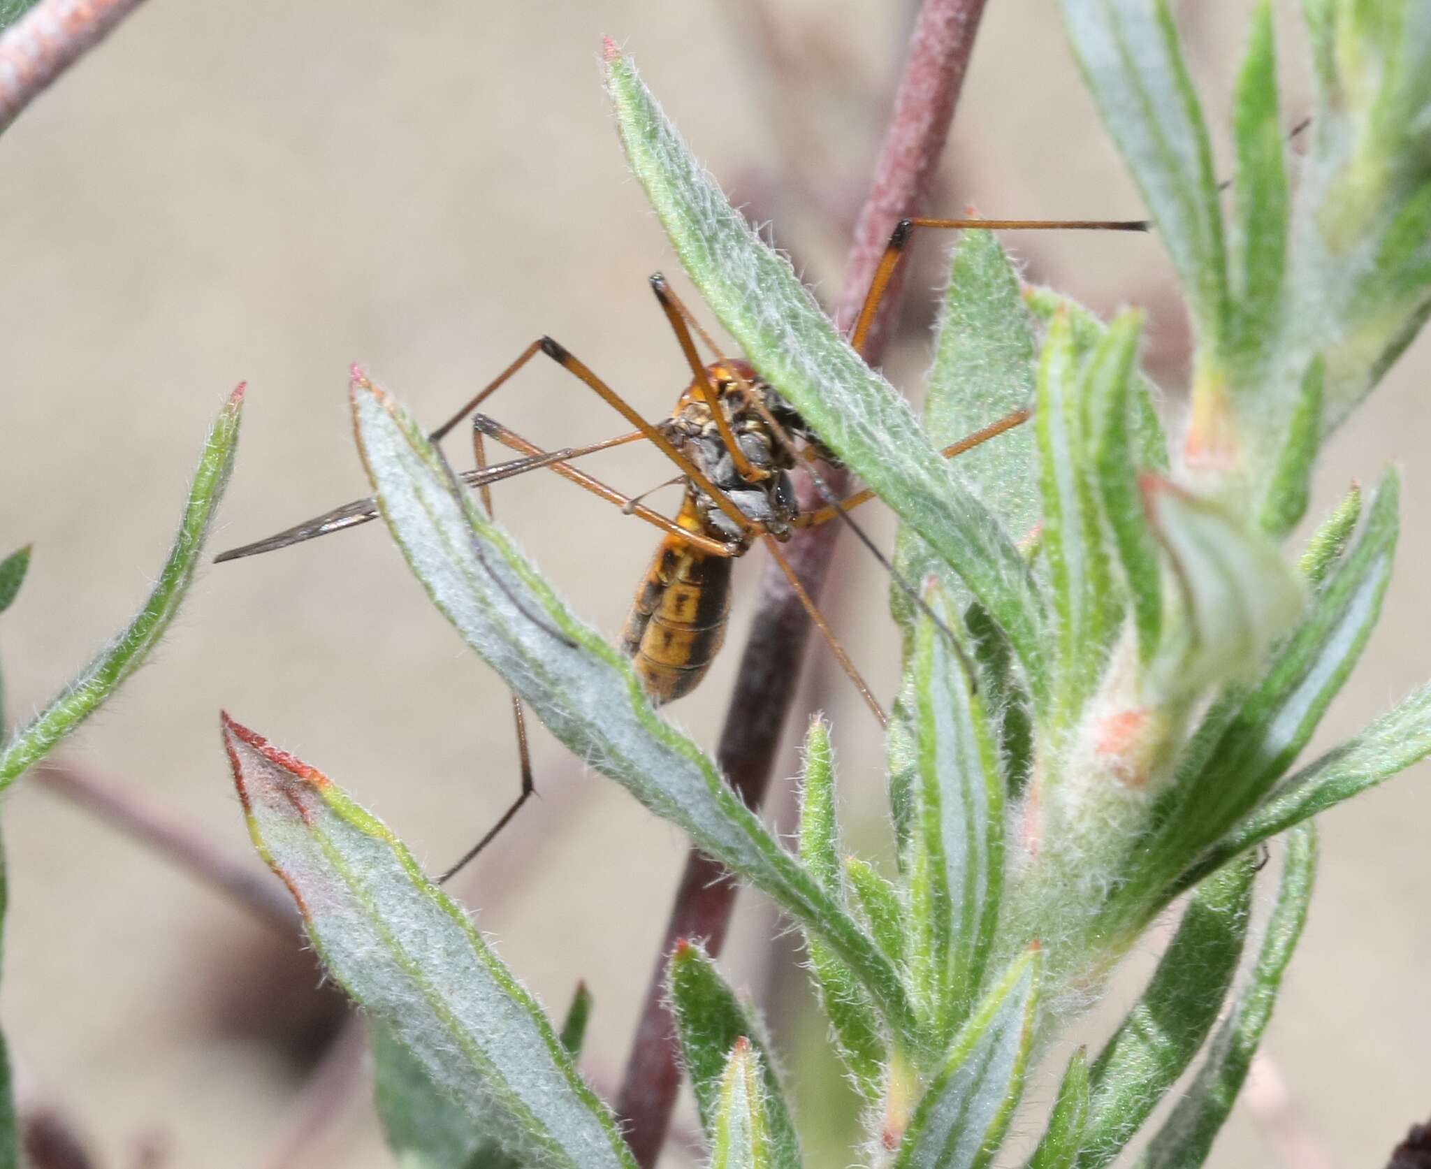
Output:
[[[438,1089],[527,1162],[634,1169],[541,1007],[402,843],[228,715],[223,738],[253,843],[323,964]]]

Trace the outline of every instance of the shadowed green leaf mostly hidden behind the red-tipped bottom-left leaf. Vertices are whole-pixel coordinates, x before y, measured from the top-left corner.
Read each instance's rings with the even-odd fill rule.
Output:
[[[581,983],[561,1026],[561,1046],[572,1060],[581,1055],[590,1012],[591,994]],[[378,1117],[402,1169],[517,1169],[489,1136],[501,1119],[474,1119],[385,1027],[373,1027],[372,1063]]]

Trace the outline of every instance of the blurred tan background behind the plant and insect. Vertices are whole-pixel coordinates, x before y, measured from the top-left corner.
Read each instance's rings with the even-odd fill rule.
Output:
[[[1307,106],[1294,9],[1279,4],[1289,122]],[[1246,10],[1182,6],[1218,126]],[[683,363],[644,278],[675,265],[608,122],[602,33],[635,54],[736,202],[773,220],[833,295],[910,16],[910,4],[831,0],[150,0],[0,143],[0,552],[36,544],[0,622],[11,717],[140,602],[205,426],[240,379],[243,439],[215,551],[363,494],[351,361],[435,422],[550,332],[648,415],[670,409]],[[990,0],[929,210],[970,203],[986,215],[1141,213],[1047,0]],[[1100,310],[1148,306],[1148,359],[1176,386],[1185,326],[1155,239],[1009,242],[1030,278]],[[914,393],[943,243],[919,252],[887,366]],[[1381,630],[1321,744],[1431,677],[1428,366],[1422,339],[1325,461],[1318,512],[1349,478],[1400,461],[1407,534]],[[620,429],[547,366],[492,411],[550,445]],[[631,449],[600,466],[631,489],[668,475]],[[554,478],[512,484],[497,502],[577,610],[614,634],[653,534]],[[889,535],[884,518],[871,524]],[[731,648],[671,711],[707,744],[757,559],[740,565]],[[836,627],[889,693],[897,641],[883,581],[844,547],[831,584]],[[853,833],[884,850],[877,735],[819,645],[809,667],[790,680],[797,707],[830,713]],[[248,859],[220,707],[345,784],[434,869],[515,791],[501,687],[373,528],[206,569],[156,661],[63,757]],[[539,730],[534,754],[542,800],[462,891],[554,1013],[587,979],[585,1067],[610,1093],[684,846]],[[796,766],[791,741],[778,770]],[[1291,1117],[1329,1165],[1375,1166],[1431,1113],[1428,778],[1418,768],[1322,821],[1318,897],[1266,1043],[1291,1110],[1269,1122],[1266,1105],[1239,1106],[1215,1165],[1286,1163],[1268,1129]],[[332,1007],[309,993],[316,973],[289,939],[34,783],[7,797],[4,830],[0,1017],[26,1100],[59,1109],[107,1166],[155,1150],[175,1166],[388,1163],[362,1089],[312,1087]],[[788,946],[773,960],[764,944],[774,926],[743,896],[727,969],[770,1003],[787,1046],[809,1049]],[[1036,1095],[1050,1095],[1052,1075]],[[819,1083],[811,1070],[813,1128],[839,1110],[810,1090]],[[305,1119],[329,1112],[336,1123]],[[820,1163],[844,1160],[836,1148]]]

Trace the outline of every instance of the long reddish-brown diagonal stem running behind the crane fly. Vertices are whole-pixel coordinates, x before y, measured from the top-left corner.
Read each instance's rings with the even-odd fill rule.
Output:
[[[924,0],[870,195],[854,230],[836,312],[841,326],[849,326],[859,312],[894,225],[914,215],[929,190],[949,136],[983,7],[985,0]],[[880,359],[887,322],[893,319],[897,303],[899,289],[892,288],[866,345],[866,358],[871,362]],[[843,475],[830,474],[827,482],[836,494],[844,492]],[[801,507],[819,507],[820,501],[813,497],[814,492],[807,491]],[[790,544],[787,559],[811,597],[820,594],[841,527],[827,524],[803,532]],[[767,562],[760,605],[717,751],[731,787],[750,807],[760,806],[768,787],[809,635],[810,622],[798,598],[778,567]],[[736,886],[726,870],[693,851],[675,890],[617,1100],[617,1112],[627,1125],[627,1140],[643,1166],[654,1165],[665,1143],[680,1087],[675,1037],[663,1002],[667,956],[681,937],[703,939],[713,954],[720,953],[734,900]]]

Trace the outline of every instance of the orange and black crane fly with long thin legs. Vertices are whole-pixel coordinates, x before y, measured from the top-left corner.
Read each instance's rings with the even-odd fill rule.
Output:
[[[850,345],[863,355],[880,300],[890,286],[910,236],[919,228],[1145,232],[1148,226],[1146,220],[903,219],[894,228],[874,270],[854,328],[850,331]],[[620,645],[631,658],[633,667],[654,704],[668,703],[690,694],[705,677],[726,638],[730,614],[731,562],[754,547],[756,541],[763,542],[776,558],[791,590],[820,630],[841,668],[860,691],[860,697],[883,725],[884,713],[877,700],[780,551],[780,545],[800,528],[813,528],[840,519],[851,527],[861,542],[889,568],[889,561],[849,515],[850,511],[873,498],[873,492],[864,489],[843,499],[833,498],[813,464],[820,461],[840,466],[839,458],[821,444],[819,435],[806,425],[800,415],[780,396],[780,392],[758,375],[750,362],[720,353],[705,331],[660,275],[651,278],[651,289],[675,333],[691,372],[691,379],[671,415],[655,424],[645,421],[565,346],[542,336],[528,345],[511,365],[429,435],[429,439],[438,444],[462,421],[471,419],[477,466],[455,476],[454,486],[461,482],[465,486],[477,488],[482,494],[484,508],[491,514],[492,484],[547,468],[577,486],[618,505],[625,514],[635,515],[661,529],[661,544],[637,587],[630,615],[620,634]],[[693,329],[713,351],[716,356],[713,362],[701,361]],[[482,412],[481,408],[487,399],[538,355],[551,359],[582,382],[635,429],[588,446],[544,451]],[[1013,411],[944,448],[942,454],[944,456],[959,455],[1022,425],[1029,416],[1030,409],[1027,408]],[[507,446],[519,458],[488,464],[487,439]],[[680,472],[675,482],[683,486],[683,495],[680,509],[674,517],[663,515],[641,504],[641,497],[624,495],[571,465],[574,459],[584,455],[638,441],[651,442]],[[797,468],[804,468],[811,475],[824,498],[823,507],[816,509],[798,507],[791,481],[791,472]],[[265,539],[232,548],[215,559],[222,562],[270,552],[365,524],[376,517],[375,499],[358,499]],[[909,588],[897,574],[893,574],[892,568],[890,571],[896,587],[923,607],[923,598]],[[451,879],[487,847],[535,791],[525,718],[521,700],[517,695],[512,695],[512,711],[521,766],[521,793],[492,828],[442,874],[439,879],[442,881]]]

